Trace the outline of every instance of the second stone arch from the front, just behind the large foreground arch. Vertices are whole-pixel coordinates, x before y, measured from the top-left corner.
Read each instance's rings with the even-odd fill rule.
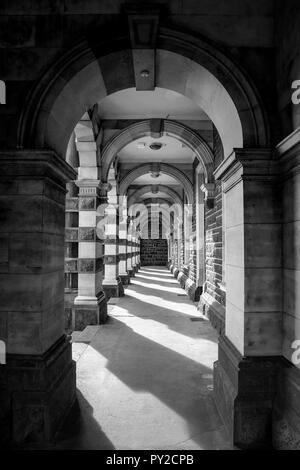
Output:
[[[109,168],[118,152],[133,140],[149,135],[153,135],[151,120],[145,120],[128,126],[107,142],[101,157],[102,178],[104,182],[107,179]],[[163,120],[161,135],[175,137],[180,142],[187,145],[196,154],[202,164],[205,181],[213,181],[214,155],[211,148],[202,137],[183,124],[167,119]]]

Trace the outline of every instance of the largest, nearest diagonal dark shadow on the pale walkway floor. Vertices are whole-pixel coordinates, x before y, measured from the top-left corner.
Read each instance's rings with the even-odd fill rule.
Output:
[[[116,318],[101,333],[91,346],[106,358],[111,374],[137,394],[147,392],[157,397],[184,418],[189,440],[200,448],[225,445],[223,424],[212,396],[212,369],[201,364],[201,357],[196,362],[136,333]],[[205,359],[205,349],[202,354]],[[181,444],[172,443],[175,448]]]

